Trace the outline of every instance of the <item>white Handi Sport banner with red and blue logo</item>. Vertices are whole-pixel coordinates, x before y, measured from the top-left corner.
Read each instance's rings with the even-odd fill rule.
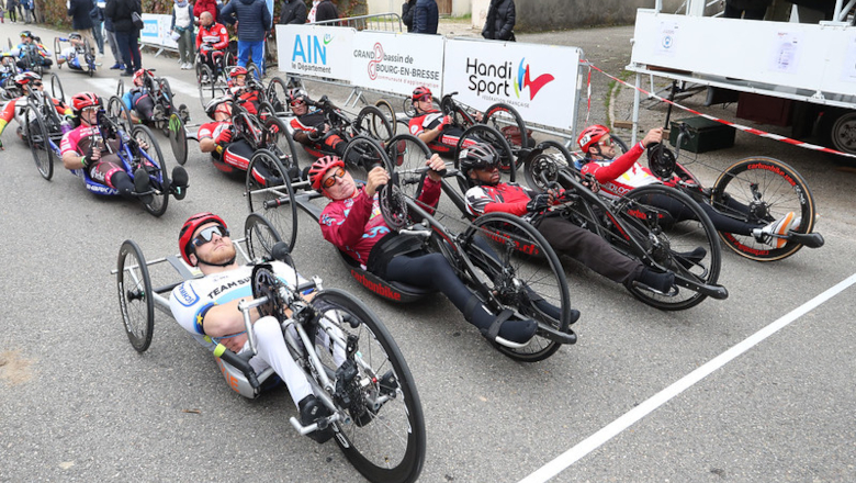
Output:
[[[480,111],[503,102],[527,122],[572,130],[579,57],[576,47],[447,40],[443,93]]]

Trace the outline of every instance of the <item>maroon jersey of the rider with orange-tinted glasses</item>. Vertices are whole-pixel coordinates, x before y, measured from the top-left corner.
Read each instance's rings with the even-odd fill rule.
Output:
[[[439,200],[440,183],[426,177],[419,201],[435,206]],[[324,207],[318,223],[324,239],[360,262],[363,269],[374,245],[390,233],[381,215],[378,193],[369,199],[364,187],[359,188],[351,198],[330,201]]]

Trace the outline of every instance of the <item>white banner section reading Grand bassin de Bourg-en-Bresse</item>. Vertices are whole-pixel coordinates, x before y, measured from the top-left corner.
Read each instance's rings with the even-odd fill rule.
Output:
[[[354,86],[402,96],[416,86],[442,91],[443,37],[358,32],[351,45]]]

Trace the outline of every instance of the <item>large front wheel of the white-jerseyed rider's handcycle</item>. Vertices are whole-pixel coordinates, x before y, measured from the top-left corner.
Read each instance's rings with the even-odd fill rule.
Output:
[[[372,401],[384,390],[380,381],[392,382],[390,398],[378,409],[357,402],[340,411],[351,418],[335,423],[334,439],[348,461],[372,482],[414,482],[425,463],[426,434],[419,393],[410,369],[383,323],[362,302],[340,290],[324,290],[313,300],[318,318],[327,321],[342,338],[356,336],[356,364],[361,401]],[[330,373],[336,363],[329,350],[316,346]],[[354,414],[362,411],[360,414]],[[360,423],[357,423],[357,420]]]

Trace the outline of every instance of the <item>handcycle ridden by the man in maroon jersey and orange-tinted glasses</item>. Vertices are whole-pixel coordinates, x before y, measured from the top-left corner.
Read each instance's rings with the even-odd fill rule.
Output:
[[[395,136],[388,146],[425,144],[409,134]],[[439,223],[429,209],[402,195],[394,188],[399,181],[387,153],[375,141],[358,137],[348,149],[360,153],[365,160],[381,160],[393,183],[382,190],[381,212],[387,225],[403,234],[423,237],[425,248],[443,255],[468,289],[495,314],[532,318],[538,323],[536,336],[526,344],[495,338],[491,344],[502,353],[520,361],[534,362],[555,353],[563,344],[575,344],[576,334],[568,328],[572,318],[570,294],[559,260],[529,224],[498,213],[483,216],[460,233],[452,233]],[[430,155],[425,147],[423,162]],[[259,153],[256,156],[266,156]],[[425,172],[421,172],[425,176]],[[282,181],[279,181],[279,180]],[[308,181],[292,183],[289,177],[278,179],[256,190],[248,186],[250,211],[275,220],[284,242],[293,247],[297,233],[297,209],[320,217],[322,206],[312,203],[324,195],[309,188]],[[305,190],[296,193],[295,189]],[[283,213],[284,212],[284,213]],[[413,216],[409,216],[413,214]],[[418,220],[419,223],[412,223]],[[394,302],[410,302],[430,294],[421,288],[386,281],[363,269],[351,257],[339,251],[351,276],[372,292]],[[531,262],[537,258],[538,262]]]

